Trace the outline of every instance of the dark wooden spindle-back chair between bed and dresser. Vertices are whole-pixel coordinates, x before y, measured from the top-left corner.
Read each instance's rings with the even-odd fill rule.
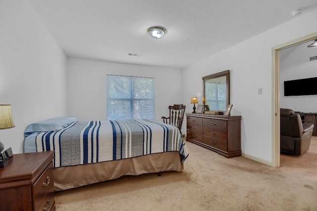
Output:
[[[163,122],[178,127],[178,129],[182,133],[182,124],[185,114],[185,108],[186,106],[184,105],[174,104],[174,106],[168,106],[169,117],[162,116],[161,118],[163,119]]]

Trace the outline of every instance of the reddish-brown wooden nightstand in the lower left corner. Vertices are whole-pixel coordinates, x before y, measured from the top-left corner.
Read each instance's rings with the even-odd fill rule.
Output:
[[[54,211],[53,151],[13,155],[0,168],[0,209]]]

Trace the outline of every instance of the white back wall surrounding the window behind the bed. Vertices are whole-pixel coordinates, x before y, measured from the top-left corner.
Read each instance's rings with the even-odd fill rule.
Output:
[[[181,102],[181,71],[174,68],[67,59],[67,115],[80,121],[106,119],[106,74],[155,78],[155,115]]]

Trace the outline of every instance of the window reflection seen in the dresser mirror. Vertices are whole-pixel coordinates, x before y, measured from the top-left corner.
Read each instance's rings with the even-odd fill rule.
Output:
[[[226,84],[222,83],[205,83],[206,105],[211,110],[226,110]]]

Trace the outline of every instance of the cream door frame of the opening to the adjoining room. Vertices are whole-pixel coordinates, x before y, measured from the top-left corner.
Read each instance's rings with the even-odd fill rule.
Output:
[[[317,39],[317,32],[272,48],[272,166],[280,166],[280,86],[279,51]]]

